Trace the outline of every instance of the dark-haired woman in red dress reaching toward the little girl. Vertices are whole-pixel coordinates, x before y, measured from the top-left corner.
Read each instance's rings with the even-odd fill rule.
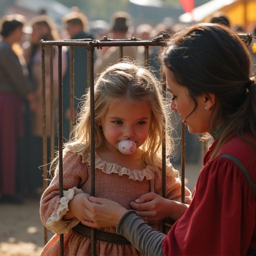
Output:
[[[214,140],[191,204],[147,193],[131,203],[134,211],[89,197],[86,224],[116,226],[144,255],[255,255],[256,82],[248,50],[228,27],[203,23],[175,34],[162,62],[170,108],[191,133]],[[167,235],[144,222],[159,216],[176,220]]]

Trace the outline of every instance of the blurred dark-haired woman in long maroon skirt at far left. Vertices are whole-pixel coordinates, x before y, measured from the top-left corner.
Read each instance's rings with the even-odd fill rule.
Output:
[[[32,107],[31,87],[18,55],[13,51],[21,42],[24,16],[14,14],[0,20],[0,201],[21,202],[24,173],[19,164],[24,134],[24,101]]]

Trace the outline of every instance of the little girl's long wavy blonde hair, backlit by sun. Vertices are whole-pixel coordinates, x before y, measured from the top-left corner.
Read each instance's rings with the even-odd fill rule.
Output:
[[[121,102],[129,98],[139,104],[146,103],[151,108],[151,123],[148,136],[140,146],[142,161],[156,169],[161,168],[161,147],[166,134],[166,155],[172,150],[172,143],[166,127],[170,127],[166,116],[166,107],[160,93],[159,82],[154,75],[135,62],[122,61],[107,67],[98,77],[94,86],[94,138],[95,150],[103,145],[103,134],[98,121],[104,116],[110,103]],[[127,109],[129,111],[129,109]],[[77,124],[67,143],[78,141],[83,150],[90,149],[90,98],[89,89],[78,115]]]

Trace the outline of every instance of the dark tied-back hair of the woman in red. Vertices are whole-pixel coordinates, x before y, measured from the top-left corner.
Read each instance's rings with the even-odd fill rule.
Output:
[[[256,136],[256,82],[250,78],[251,59],[241,39],[228,27],[201,23],[176,33],[161,55],[175,81],[196,96],[214,93],[216,104],[209,120],[210,133],[222,126],[212,158],[232,136]]]

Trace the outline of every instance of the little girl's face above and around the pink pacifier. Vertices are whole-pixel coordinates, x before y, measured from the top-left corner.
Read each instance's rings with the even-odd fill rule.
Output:
[[[118,150],[121,140],[130,139],[139,147],[148,135],[151,109],[147,104],[136,104],[131,99],[110,104],[100,119],[105,144],[111,151]],[[119,151],[119,150],[118,150]]]

